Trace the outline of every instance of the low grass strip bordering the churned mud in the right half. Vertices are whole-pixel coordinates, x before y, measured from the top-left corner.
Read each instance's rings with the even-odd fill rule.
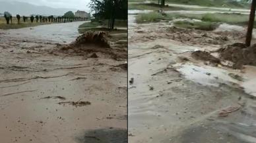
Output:
[[[196,29],[196,30],[215,30],[218,24],[213,22],[189,22],[189,21],[176,21],[174,25],[179,28],[189,28],[189,29]]]

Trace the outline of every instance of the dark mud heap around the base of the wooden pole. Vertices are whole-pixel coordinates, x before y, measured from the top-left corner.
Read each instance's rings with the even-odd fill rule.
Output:
[[[222,59],[232,61],[234,69],[241,69],[243,65],[256,66],[256,44],[246,47],[243,43],[226,45],[218,50]]]

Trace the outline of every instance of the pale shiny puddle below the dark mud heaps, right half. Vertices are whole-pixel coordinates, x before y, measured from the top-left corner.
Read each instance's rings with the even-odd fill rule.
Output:
[[[220,84],[238,84],[243,90],[251,96],[256,96],[256,67],[246,66],[243,73],[232,69],[220,69],[219,67],[210,67],[207,65],[176,65],[177,71],[181,72],[185,78],[205,86],[220,86]],[[238,77],[238,78],[236,78]],[[242,78],[242,81],[240,79]]]

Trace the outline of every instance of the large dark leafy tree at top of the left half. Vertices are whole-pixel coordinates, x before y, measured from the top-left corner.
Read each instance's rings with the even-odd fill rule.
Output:
[[[108,19],[108,28],[113,30],[115,19],[127,20],[127,0],[91,0],[89,7],[93,16]]]

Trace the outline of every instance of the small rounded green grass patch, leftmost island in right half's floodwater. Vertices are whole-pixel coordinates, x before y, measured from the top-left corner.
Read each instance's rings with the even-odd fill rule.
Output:
[[[141,13],[138,14],[136,17],[137,23],[145,23],[145,22],[159,22],[162,20],[164,16],[157,12],[150,12],[150,13]]]

